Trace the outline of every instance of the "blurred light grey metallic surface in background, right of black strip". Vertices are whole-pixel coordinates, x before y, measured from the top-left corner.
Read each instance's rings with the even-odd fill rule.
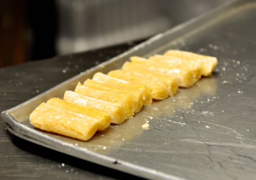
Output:
[[[148,38],[229,0],[56,0],[58,54]]]

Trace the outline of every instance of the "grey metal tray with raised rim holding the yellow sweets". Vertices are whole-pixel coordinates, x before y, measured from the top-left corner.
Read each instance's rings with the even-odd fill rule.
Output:
[[[256,172],[256,1],[232,1],[156,35],[109,61],[1,113],[18,137],[83,160],[149,179],[252,179]],[[211,77],[143,107],[91,140],[35,129],[29,114],[62,98],[96,72],[120,68],[132,55],[168,49],[215,56]],[[149,128],[141,128],[149,121]]]

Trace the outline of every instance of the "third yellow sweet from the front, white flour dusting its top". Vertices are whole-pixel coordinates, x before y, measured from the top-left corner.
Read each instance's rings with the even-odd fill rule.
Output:
[[[126,119],[125,109],[121,103],[103,101],[84,96],[73,91],[66,91],[64,94],[64,100],[79,106],[86,106],[109,112],[111,116],[111,123],[114,124],[121,124]]]

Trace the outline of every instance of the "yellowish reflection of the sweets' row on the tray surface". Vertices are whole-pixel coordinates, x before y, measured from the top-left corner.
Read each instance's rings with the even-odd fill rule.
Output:
[[[103,154],[114,153],[120,148],[122,149],[124,145],[133,143],[134,138],[143,136],[141,134],[143,131],[150,131],[155,128],[168,129],[168,127],[172,127],[173,123],[181,126],[186,125],[184,119],[186,115],[180,115],[180,112],[193,112],[196,106],[194,104],[198,104],[199,98],[206,95],[207,101],[211,101],[215,99],[215,92],[214,77],[203,77],[195,86],[180,89],[174,97],[155,101],[150,106],[144,106],[141,112],[123,124],[111,125],[108,129],[97,132],[88,143],[90,144],[89,149]],[[150,127],[142,128],[141,126],[145,123],[148,123]]]

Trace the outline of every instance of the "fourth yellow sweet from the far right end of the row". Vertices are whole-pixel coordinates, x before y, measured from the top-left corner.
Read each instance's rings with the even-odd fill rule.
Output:
[[[173,96],[174,94],[177,93],[178,91],[178,83],[170,75],[164,75],[164,74],[158,74],[154,72],[148,71],[148,69],[145,69],[143,67],[137,66],[136,64],[132,64],[131,62],[125,62],[123,65],[123,70],[129,71],[132,74],[141,76],[141,77],[147,77],[150,79],[153,79],[155,81],[160,81],[164,85],[166,85],[168,91],[169,91],[169,96]]]

